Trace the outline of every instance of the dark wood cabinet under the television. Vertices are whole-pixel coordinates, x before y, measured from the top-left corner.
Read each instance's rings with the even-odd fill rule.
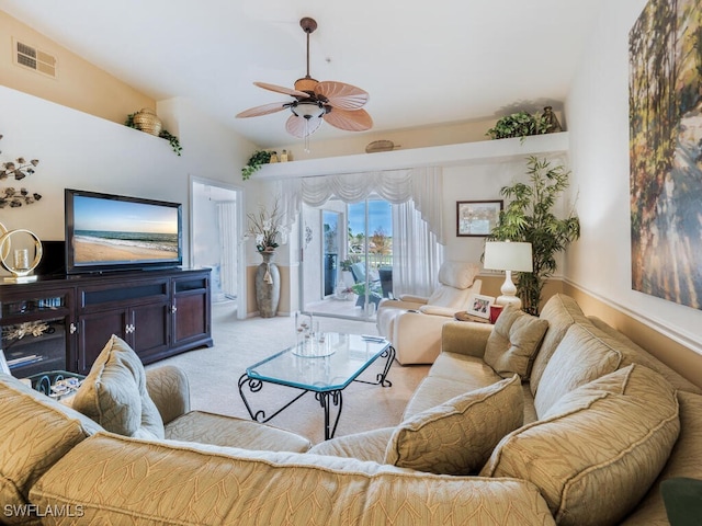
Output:
[[[87,374],[112,334],[149,364],[212,346],[210,270],[111,272],[0,282],[2,345],[16,377]]]

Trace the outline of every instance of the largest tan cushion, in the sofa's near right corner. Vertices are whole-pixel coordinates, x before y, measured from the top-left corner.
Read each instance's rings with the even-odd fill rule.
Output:
[[[620,524],[666,465],[678,411],[672,387],[634,364],[564,395],[542,420],[507,435],[480,476],[534,483],[559,525]]]

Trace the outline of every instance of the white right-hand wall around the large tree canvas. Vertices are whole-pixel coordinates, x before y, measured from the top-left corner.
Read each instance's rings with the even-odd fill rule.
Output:
[[[566,277],[702,354],[702,311],[631,287],[627,46],[629,31],[645,4],[603,4],[568,95],[582,237],[568,251]]]

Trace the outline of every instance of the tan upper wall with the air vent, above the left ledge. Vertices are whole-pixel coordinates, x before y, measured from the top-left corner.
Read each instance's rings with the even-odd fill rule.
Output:
[[[0,11],[0,83],[8,88],[120,124],[128,114],[143,107],[156,110],[155,99],[117,80],[3,11]],[[13,38],[55,56],[56,78],[14,64]]]

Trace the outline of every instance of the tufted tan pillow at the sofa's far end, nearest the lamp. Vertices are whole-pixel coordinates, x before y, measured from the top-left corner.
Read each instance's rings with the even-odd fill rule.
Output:
[[[485,363],[502,378],[529,378],[548,322],[508,305],[497,319],[485,347]]]

